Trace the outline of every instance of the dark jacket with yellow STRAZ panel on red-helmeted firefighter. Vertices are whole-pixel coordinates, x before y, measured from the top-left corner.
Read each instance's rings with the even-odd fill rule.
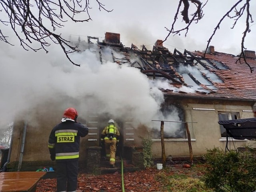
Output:
[[[50,154],[56,161],[70,161],[79,158],[80,137],[88,134],[88,128],[80,123],[67,120],[56,125],[49,136]]]

